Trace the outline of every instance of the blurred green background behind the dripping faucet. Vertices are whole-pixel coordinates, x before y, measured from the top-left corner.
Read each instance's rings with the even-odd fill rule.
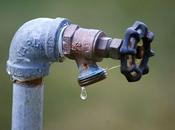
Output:
[[[11,39],[26,21],[66,17],[123,38],[135,20],[155,33],[150,73],[128,83],[119,69],[79,99],[74,61],[54,63],[45,77],[44,130],[174,130],[175,2],[173,0],[0,0],[0,130],[11,127],[12,83],[6,74]],[[102,67],[118,65],[105,59]]]

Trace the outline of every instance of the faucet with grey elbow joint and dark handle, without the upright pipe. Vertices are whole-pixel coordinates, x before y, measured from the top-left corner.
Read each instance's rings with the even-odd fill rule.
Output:
[[[113,39],[103,31],[81,28],[64,18],[34,19],[15,34],[7,72],[18,81],[42,78],[48,75],[52,62],[62,62],[66,56],[77,63],[80,86],[87,86],[106,77],[106,70],[96,62],[113,58],[121,61],[121,72],[129,82],[138,81],[148,73],[153,37],[148,27],[139,21],[127,29],[124,39]],[[138,44],[140,40],[142,45]],[[141,59],[139,65],[136,59]]]

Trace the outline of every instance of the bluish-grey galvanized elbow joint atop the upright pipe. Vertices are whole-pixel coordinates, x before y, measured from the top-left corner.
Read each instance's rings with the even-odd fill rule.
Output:
[[[14,35],[7,61],[13,79],[44,77],[51,63],[62,60],[62,33],[70,25],[64,18],[38,18],[22,25]]]

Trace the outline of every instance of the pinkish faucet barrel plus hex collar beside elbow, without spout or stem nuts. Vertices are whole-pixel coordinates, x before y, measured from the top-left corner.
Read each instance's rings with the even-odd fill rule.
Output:
[[[105,36],[105,34],[100,30],[80,28],[74,24],[70,25],[65,29],[63,35],[64,54],[71,59],[82,56],[86,59],[98,60],[98,57],[94,55],[94,51],[97,40],[102,36]]]

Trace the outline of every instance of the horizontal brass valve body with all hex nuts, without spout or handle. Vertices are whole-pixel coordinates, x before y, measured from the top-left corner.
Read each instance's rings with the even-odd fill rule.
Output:
[[[63,51],[71,59],[83,57],[97,62],[108,57],[119,59],[121,43],[122,39],[112,39],[100,30],[85,29],[75,24],[68,26],[63,34]]]

